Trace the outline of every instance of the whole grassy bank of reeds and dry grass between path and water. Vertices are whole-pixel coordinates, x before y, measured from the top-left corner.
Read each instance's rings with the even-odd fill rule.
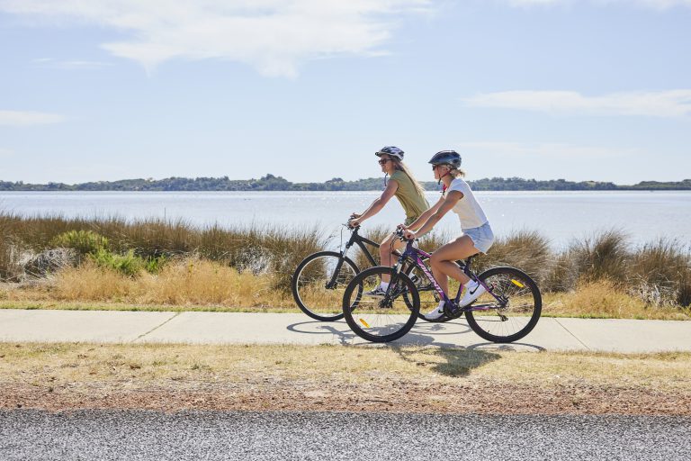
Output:
[[[381,240],[386,231],[367,233]],[[433,235],[421,246],[435,249],[448,237]],[[4,213],[0,304],[284,310],[294,305],[290,276],[297,264],[338,241],[317,229],[200,229],[184,221]],[[353,256],[368,266],[362,255]],[[499,239],[476,261],[479,271],[524,269],[541,287],[548,315],[688,318],[691,252],[677,241],[632,247],[622,232],[610,230],[556,252],[546,237],[523,230]]]

